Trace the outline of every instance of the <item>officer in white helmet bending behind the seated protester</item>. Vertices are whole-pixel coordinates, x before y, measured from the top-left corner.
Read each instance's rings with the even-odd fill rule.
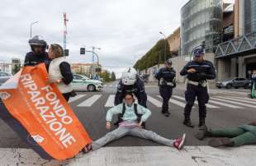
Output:
[[[137,71],[133,67],[122,73],[121,81],[117,85],[115,105],[123,102],[126,93],[133,93],[138,99],[138,103],[145,108],[147,107],[144,82],[139,78]]]

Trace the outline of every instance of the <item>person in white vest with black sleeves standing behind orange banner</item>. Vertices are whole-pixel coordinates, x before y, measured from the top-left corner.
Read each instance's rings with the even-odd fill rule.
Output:
[[[59,44],[50,44],[49,58],[52,59],[49,67],[49,82],[55,83],[59,91],[64,95],[64,98],[69,101],[70,96],[74,96],[72,85],[73,74],[64,57],[64,50]]]

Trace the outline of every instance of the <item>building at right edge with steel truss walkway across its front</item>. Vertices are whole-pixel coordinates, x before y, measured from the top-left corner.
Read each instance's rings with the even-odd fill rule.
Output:
[[[229,77],[249,78],[256,70],[256,1],[235,0],[234,39],[216,49],[218,80]]]

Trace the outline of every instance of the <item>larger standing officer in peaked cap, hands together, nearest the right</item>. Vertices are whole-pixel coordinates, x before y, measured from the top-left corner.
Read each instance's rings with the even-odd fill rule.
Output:
[[[187,91],[185,92],[185,99],[187,101],[184,109],[184,122],[187,127],[194,127],[190,120],[190,113],[192,106],[197,97],[199,106],[199,129],[205,130],[205,118],[206,118],[206,104],[209,101],[209,95],[207,90],[207,80],[213,80],[216,78],[215,68],[212,63],[204,60],[204,50],[202,48],[196,48],[193,51],[194,59],[192,62],[188,62],[183,70],[180,72],[181,76],[187,76]]]

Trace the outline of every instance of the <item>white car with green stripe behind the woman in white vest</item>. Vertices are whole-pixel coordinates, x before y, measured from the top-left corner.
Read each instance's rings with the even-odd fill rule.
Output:
[[[103,89],[102,81],[92,80],[87,76],[73,74],[71,83],[73,90],[101,91]]]

